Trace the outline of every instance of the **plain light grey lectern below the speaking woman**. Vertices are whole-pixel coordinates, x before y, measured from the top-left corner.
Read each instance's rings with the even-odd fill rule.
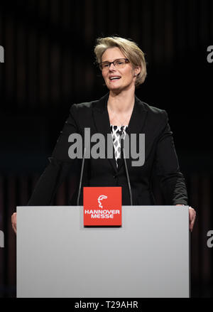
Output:
[[[190,296],[188,206],[123,206],[84,227],[82,206],[17,207],[18,298]]]

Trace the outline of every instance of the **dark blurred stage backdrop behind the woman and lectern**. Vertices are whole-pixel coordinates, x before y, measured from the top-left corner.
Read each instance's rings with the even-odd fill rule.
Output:
[[[70,106],[107,93],[93,48],[97,37],[109,35],[131,38],[146,53],[148,77],[136,95],[168,112],[189,204],[197,210],[192,297],[213,296],[213,248],[207,247],[213,230],[212,16],[212,0],[1,1],[1,297],[16,296],[11,215],[28,202]],[[65,205],[70,192],[67,179],[54,204]]]

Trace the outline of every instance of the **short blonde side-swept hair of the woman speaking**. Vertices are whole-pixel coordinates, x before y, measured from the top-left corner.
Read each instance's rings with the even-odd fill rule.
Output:
[[[146,60],[143,51],[138,45],[128,39],[121,37],[105,37],[97,38],[97,44],[94,47],[97,63],[102,62],[102,55],[108,48],[119,48],[121,52],[128,58],[133,68],[139,66],[141,72],[136,77],[136,87],[141,85],[146,79]]]

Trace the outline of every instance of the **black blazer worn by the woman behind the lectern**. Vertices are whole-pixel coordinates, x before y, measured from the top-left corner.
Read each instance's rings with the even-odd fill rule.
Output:
[[[28,205],[50,205],[56,190],[67,175],[72,175],[75,180],[75,190],[67,205],[77,204],[82,159],[72,160],[68,156],[71,145],[68,137],[72,133],[78,133],[84,139],[84,128],[89,128],[91,136],[95,133],[103,134],[107,144],[107,134],[111,134],[107,112],[108,97],[109,94],[97,101],[72,105],[70,115],[49,158],[50,163],[40,176]],[[131,154],[129,159],[126,159],[133,205],[155,205],[152,189],[153,175],[159,178],[165,205],[187,205],[185,179],[180,173],[167,113],[135,97],[127,133],[129,136],[145,134],[143,166],[131,166],[131,161],[134,160]],[[118,168],[116,168],[115,158],[85,159],[83,186],[121,186],[122,204],[130,205],[126,170],[122,159]],[[82,191],[80,205],[82,205]]]

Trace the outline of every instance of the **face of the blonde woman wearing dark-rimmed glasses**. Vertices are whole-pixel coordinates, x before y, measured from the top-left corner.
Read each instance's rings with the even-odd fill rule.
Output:
[[[126,58],[119,48],[108,48],[102,55],[102,62],[113,62],[119,58]],[[133,69],[131,63],[126,63],[124,68],[116,68],[111,64],[102,69],[102,76],[110,91],[121,92],[135,88],[136,75],[140,71],[140,68]]]

